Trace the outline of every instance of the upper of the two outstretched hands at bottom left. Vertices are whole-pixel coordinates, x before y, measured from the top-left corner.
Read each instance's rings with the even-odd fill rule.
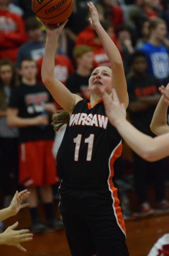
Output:
[[[21,204],[25,199],[29,198],[30,192],[27,189],[23,191],[16,191],[9,208],[11,209],[12,215],[16,215],[20,209],[29,206],[29,203]]]

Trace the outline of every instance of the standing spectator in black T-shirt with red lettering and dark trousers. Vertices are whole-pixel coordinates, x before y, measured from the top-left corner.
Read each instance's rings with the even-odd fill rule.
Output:
[[[139,131],[151,137],[155,134],[150,130],[150,123],[156,105],[160,99],[158,87],[160,81],[147,72],[147,60],[144,52],[135,52],[132,55],[132,76],[127,79],[129,93],[129,117],[132,125]],[[162,208],[161,202],[165,199],[165,160],[148,162],[133,152],[135,163],[135,189],[140,202],[140,211],[143,214],[153,212],[148,200],[148,184],[155,188],[155,208]],[[151,177],[151,179],[150,179]],[[165,208],[169,208],[166,202]]]

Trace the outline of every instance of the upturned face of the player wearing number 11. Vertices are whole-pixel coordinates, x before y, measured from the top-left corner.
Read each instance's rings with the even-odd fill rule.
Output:
[[[112,71],[109,67],[97,67],[89,78],[89,91],[91,94],[100,94],[100,88],[105,88],[107,93],[112,92]]]

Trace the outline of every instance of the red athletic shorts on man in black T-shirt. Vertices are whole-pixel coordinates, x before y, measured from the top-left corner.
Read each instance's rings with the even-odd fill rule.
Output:
[[[19,183],[22,186],[43,186],[59,182],[53,140],[39,140],[19,145]]]

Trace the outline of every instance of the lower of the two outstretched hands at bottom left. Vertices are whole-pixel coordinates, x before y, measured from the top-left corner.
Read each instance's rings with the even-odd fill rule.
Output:
[[[20,245],[21,242],[31,241],[33,234],[29,233],[28,229],[14,230],[18,225],[18,222],[8,227],[3,233],[0,234],[0,244],[16,246],[23,252],[26,249]]]

